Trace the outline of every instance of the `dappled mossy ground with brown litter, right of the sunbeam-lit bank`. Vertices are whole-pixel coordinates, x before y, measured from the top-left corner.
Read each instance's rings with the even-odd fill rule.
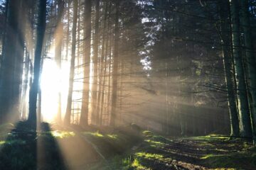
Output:
[[[244,140],[220,135],[164,137],[144,131],[144,141],[108,165],[93,169],[256,169],[256,149]]]

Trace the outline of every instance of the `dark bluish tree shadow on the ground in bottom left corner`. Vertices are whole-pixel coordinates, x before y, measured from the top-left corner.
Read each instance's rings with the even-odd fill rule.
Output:
[[[41,123],[36,132],[27,122],[18,122],[1,135],[0,169],[66,169],[48,123]]]

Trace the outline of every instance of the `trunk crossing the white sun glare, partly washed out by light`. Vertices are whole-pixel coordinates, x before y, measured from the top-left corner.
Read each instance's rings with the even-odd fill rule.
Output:
[[[58,13],[57,13],[57,25],[55,30],[55,62],[58,67],[58,72],[61,71],[61,60],[62,60],[62,45],[63,45],[63,11],[64,11],[64,1],[58,0]],[[56,77],[57,78],[57,77]],[[58,75],[58,82],[60,84],[61,78]],[[61,123],[61,91],[58,91],[58,113],[57,122]]]

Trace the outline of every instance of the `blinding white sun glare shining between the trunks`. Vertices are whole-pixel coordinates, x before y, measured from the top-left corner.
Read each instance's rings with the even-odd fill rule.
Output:
[[[54,49],[54,48],[53,48]],[[62,63],[59,70],[52,56],[54,50],[50,50],[50,59],[44,60],[41,74],[42,108],[44,121],[52,122],[58,111],[58,94],[61,93],[61,110],[65,111],[66,96],[68,94],[68,62]]]

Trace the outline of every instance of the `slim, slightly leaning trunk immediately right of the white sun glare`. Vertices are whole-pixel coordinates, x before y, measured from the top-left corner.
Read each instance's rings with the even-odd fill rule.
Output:
[[[65,125],[70,124],[70,116],[72,110],[72,96],[73,96],[73,83],[75,76],[75,45],[76,45],[76,30],[78,23],[78,0],[73,1],[73,28],[72,28],[72,47],[71,47],[71,61],[70,61],[70,77],[68,88],[68,101],[64,118]]]

